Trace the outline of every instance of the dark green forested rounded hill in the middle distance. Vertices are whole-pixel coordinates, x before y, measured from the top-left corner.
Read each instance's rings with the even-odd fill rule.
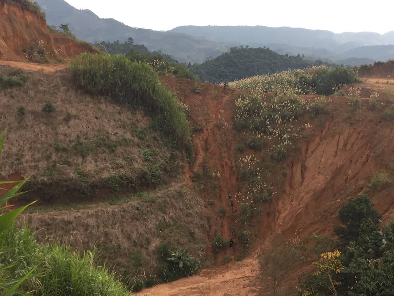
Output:
[[[214,59],[203,64],[194,64],[190,71],[201,81],[220,83],[234,81],[253,75],[271,74],[288,69],[303,69],[322,65],[322,61],[312,62],[301,56],[277,54],[269,48],[231,47]]]

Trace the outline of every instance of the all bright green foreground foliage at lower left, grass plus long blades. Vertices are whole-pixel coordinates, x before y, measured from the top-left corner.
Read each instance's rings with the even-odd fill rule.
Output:
[[[0,154],[6,131],[0,135]],[[0,197],[0,205],[17,197],[19,189],[28,181],[17,182]],[[1,182],[2,186],[13,185]],[[17,229],[15,218],[34,202],[4,212],[0,208],[0,289],[2,295],[128,295],[125,287],[105,268],[95,267],[95,252],[83,257],[69,247],[42,245],[35,241],[26,227]]]

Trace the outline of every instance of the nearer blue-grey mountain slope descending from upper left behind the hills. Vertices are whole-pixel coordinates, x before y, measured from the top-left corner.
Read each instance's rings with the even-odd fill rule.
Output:
[[[218,56],[230,47],[225,44],[201,40],[190,35],[132,28],[114,19],[100,19],[92,11],[76,9],[64,0],[38,0],[46,13],[49,25],[69,24],[72,32],[90,43],[101,41],[126,41],[145,45],[150,51],[171,54],[180,62],[204,62],[208,56]]]

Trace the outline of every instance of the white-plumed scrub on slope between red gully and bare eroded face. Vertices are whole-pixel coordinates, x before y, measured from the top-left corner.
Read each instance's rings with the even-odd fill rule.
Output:
[[[286,176],[284,160],[295,141],[311,127],[297,126],[297,121],[305,114],[310,117],[325,114],[327,103],[324,96],[303,101],[294,94],[276,97],[241,94],[236,99],[234,128],[242,132],[237,144],[241,154],[240,176],[247,185],[241,197],[242,220],[250,221],[260,214],[261,204],[271,200],[282,187]],[[245,155],[246,149],[254,153]]]

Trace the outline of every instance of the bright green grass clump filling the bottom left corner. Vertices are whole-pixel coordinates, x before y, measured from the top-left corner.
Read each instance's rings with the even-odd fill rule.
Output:
[[[22,277],[37,267],[37,274],[24,281],[20,291],[33,295],[56,296],[126,296],[130,293],[104,267],[96,267],[95,251],[80,257],[69,246],[43,245],[36,242],[30,229],[12,227],[1,241],[8,251],[1,254],[13,266],[2,271],[2,278]]]

